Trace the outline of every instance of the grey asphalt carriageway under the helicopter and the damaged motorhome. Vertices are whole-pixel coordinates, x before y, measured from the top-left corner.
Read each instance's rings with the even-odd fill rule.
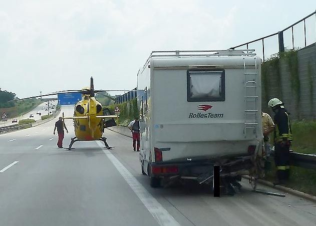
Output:
[[[66,151],[55,121],[0,135],[0,225],[316,225],[316,203],[253,193],[246,180],[220,198],[194,184],[151,188],[131,138],[107,130],[114,149],[89,141]]]

